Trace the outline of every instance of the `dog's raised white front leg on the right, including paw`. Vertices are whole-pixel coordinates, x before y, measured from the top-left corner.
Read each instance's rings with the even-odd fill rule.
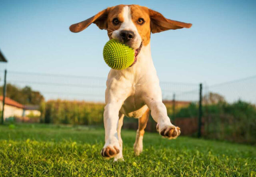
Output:
[[[180,135],[180,127],[172,125],[162,98],[147,97],[146,103],[151,110],[152,118],[157,122],[156,129],[160,135],[168,139],[176,139]]]

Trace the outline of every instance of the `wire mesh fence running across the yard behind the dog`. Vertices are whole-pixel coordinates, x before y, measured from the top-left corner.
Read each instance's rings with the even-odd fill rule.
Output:
[[[0,73],[0,84],[3,85],[4,72]],[[7,73],[7,84],[20,89],[29,86],[44,96],[39,107],[40,121],[47,123],[102,125],[106,79],[14,71]],[[181,127],[182,135],[202,134],[202,137],[210,139],[256,142],[256,76],[213,86],[202,84],[202,111],[199,111],[199,84],[160,82],[160,87],[168,116],[172,123]],[[8,89],[7,96],[12,98]],[[202,119],[198,119],[200,115]],[[124,128],[137,127],[137,119],[124,119]],[[152,117],[146,129],[156,131]]]

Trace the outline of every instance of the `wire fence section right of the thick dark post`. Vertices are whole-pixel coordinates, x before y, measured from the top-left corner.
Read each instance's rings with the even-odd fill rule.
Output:
[[[204,90],[203,136],[256,144],[256,76]]]

